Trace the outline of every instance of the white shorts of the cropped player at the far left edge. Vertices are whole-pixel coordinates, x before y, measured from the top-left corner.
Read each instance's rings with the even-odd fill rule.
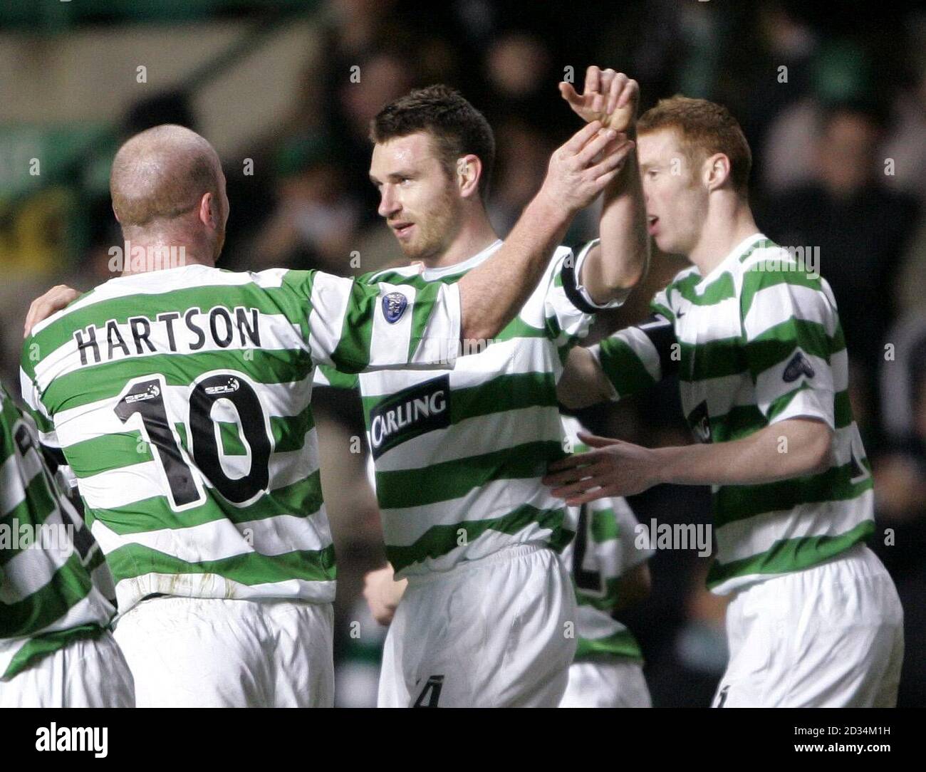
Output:
[[[71,641],[0,681],[0,708],[134,706],[129,666],[108,630]]]

